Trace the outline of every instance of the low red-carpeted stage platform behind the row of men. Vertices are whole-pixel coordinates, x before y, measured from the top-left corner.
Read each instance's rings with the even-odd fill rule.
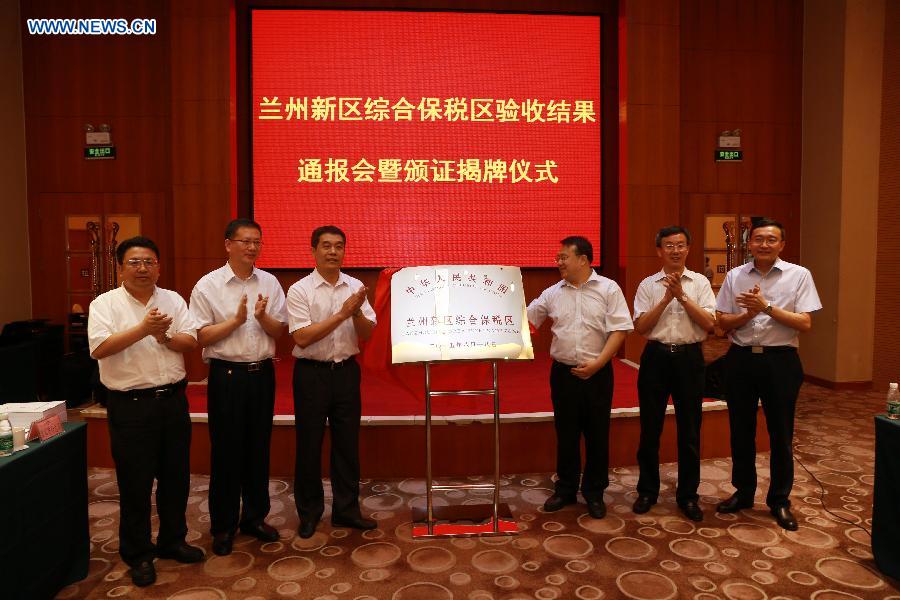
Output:
[[[291,399],[293,359],[278,361],[275,427],[272,431],[271,474],[291,477],[294,472],[295,433]],[[478,379],[479,367],[473,366]],[[480,367],[481,376],[489,367]],[[360,432],[360,462],[364,478],[424,477],[425,401],[424,367],[402,367],[398,377],[385,371],[363,368],[363,417]],[[550,406],[549,357],[500,365],[501,469],[503,473],[548,473],[556,470],[556,433]],[[461,382],[448,381],[435,369],[436,389],[459,389]],[[458,372],[456,373],[458,375]],[[615,360],[615,391],[610,426],[610,466],[636,464],[640,421],[637,408],[636,365]],[[466,384],[471,384],[467,378]],[[421,382],[421,383],[416,383]],[[482,382],[483,384],[483,382]],[[484,387],[489,387],[486,385]],[[209,432],[206,386],[188,387],[193,422],[191,472],[209,473]],[[660,460],[677,459],[675,416],[668,408],[660,446]],[[86,408],[88,421],[88,465],[112,467],[106,409]],[[493,472],[493,404],[490,397],[440,398],[433,402],[434,472],[439,476],[465,476]],[[703,405],[701,456],[729,456],[728,411],[725,403],[707,400]],[[328,436],[323,450],[323,473],[328,472]],[[765,418],[759,413],[757,448],[768,450]]]

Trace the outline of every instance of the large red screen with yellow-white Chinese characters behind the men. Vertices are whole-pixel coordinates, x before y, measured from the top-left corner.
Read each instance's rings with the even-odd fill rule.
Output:
[[[254,10],[251,22],[260,266],[313,266],[310,233],[327,224],[347,233],[345,267],[552,267],[567,235],[599,262],[600,17]],[[275,96],[593,100],[596,121],[260,120]],[[328,157],[553,160],[558,183],[297,181],[299,159]]]

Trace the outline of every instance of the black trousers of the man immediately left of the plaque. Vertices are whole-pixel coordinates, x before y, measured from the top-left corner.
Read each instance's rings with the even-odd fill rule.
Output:
[[[326,420],[331,429],[332,518],[360,516],[359,381],[359,365],[353,358],[335,368],[306,359],[294,363],[294,502],[301,520],[317,520],[325,510],[322,439]]]

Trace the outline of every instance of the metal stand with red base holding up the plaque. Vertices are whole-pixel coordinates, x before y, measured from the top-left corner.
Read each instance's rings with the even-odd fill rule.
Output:
[[[497,361],[492,360],[494,386],[484,390],[431,390],[431,363],[425,363],[425,497],[424,509],[412,511],[414,538],[444,538],[515,535],[519,527],[509,505],[500,503],[500,387]],[[459,485],[435,485],[431,472],[431,399],[435,396],[494,397],[494,482]],[[491,505],[434,506],[434,492],[447,490],[491,490]],[[438,523],[442,521],[442,523]],[[466,521],[465,524],[454,521]],[[424,522],[424,524],[423,524]]]

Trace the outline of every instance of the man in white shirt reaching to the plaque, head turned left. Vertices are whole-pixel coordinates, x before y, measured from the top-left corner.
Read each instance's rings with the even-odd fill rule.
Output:
[[[611,361],[633,326],[618,284],[591,268],[591,243],[580,236],[560,243],[556,264],[562,281],[528,305],[532,325],[540,327],[547,317],[553,322],[550,396],[556,426],[557,482],[544,510],[553,512],[574,504],[580,479],[588,512],[602,519],[606,515],[603,491],[609,486]]]

